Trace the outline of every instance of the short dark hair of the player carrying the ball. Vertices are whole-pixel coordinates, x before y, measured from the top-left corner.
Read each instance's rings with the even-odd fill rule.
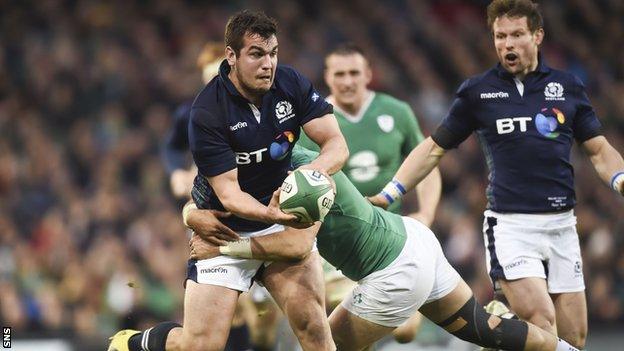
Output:
[[[236,55],[240,54],[246,34],[269,39],[277,34],[277,21],[261,11],[239,11],[230,17],[225,26],[225,46],[231,47]]]

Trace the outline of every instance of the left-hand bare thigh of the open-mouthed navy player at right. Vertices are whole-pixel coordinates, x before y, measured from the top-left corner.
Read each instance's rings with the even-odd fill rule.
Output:
[[[498,283],[518,317],[547,331],[556,332],[555,306],[544,279],[522,278],[500,280]]]

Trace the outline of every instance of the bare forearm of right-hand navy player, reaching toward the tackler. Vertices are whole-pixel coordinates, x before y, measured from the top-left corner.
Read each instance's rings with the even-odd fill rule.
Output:
[[[413,189],[440,163],[444,152],[445,150],[431,137],[425,139],[403,161],[394,179],[399,181],[406,191]]]

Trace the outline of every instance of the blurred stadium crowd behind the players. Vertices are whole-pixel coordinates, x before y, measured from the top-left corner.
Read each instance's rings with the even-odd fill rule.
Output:
[[[16,335],[104,340],[180,319],[188,242],[159,148],[176,105],[201,89],[199,51],[222,40],[234,11],[277,18],[280,62],[324,92],[324,53],[356,42],[371,58],[371,88],[409,101],[428,134],[459,83],[496,62],[488,2],[3,2],[0,324]],[[542,10],[543,58],[585,82],[623,152],[624,2],[551,0]],[[579,150],[573,163],[591,334],[624,326],[624,200]],[[485,302],[487,172],[474,137],[441,173],[434,231]]]

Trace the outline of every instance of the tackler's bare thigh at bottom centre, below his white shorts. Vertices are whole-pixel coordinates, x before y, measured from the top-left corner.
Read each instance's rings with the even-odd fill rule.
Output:
[[[340,351],[362,350],[395,329],[360,318],[342,305],[329,316],[329,325],[336,348]]]

